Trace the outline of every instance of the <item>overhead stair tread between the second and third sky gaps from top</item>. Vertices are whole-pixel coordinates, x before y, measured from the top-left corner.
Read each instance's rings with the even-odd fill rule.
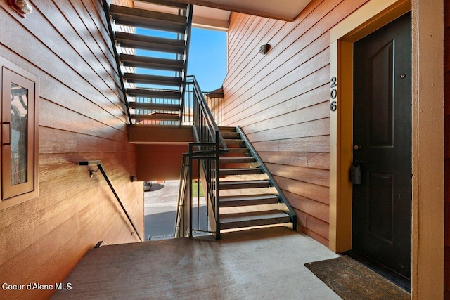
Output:
[[[181,71],[184,68],[183,60],[169,58],[153,58],[120,53],[119,59],[125,67],[143,67],[167,71]]]

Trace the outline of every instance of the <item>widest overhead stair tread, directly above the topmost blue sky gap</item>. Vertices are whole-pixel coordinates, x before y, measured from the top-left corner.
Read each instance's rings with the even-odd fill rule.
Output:
[[[186,17],[182,15],[114,4],[110,5],[110,13],[113,15],[115,22],[120,25],[179,33],[183,33],[186,30]]]

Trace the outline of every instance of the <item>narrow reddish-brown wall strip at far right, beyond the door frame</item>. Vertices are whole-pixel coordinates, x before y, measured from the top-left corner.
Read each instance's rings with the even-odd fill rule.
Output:
[[[445,102],[445,250],[444,299],[450,299],[450,0],[444,0],[444,102]]]

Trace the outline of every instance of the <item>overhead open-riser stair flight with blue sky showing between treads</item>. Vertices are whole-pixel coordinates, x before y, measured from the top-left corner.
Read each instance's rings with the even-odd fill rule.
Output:
[[[129,105],[130,122],[180,124],[192,6],[139,0],[152,10],[108,5],[113,44]],[[116,30],[113,31],[113,28]]]

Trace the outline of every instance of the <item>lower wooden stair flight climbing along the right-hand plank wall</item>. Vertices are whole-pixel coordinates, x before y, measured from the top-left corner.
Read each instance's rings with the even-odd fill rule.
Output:
[[[273,179],[252,155],[243,133],[235,127],[219,127],[219,130],[229,148],[220,157],[221,232],[254,226],[295,228],[295,215],[291,217],[289,208],[281,202]]]

